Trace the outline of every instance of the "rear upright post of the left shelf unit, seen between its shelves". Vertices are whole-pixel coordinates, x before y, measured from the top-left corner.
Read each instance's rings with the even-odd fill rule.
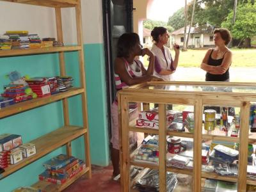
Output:
[[[56,17],[57,38],[58,38],[58,41],[63,42],[61,8],[55,8],[55,17]],[[64,52],[59,52],[59,62],[60,62],[60,75],[66,76]],[[68,99],[67,98],[62,99],[62,107],[63,107],[64,125],[66,125],[66,126],[70,125],[69,113],[68,113]],[[67,151],[68,156],[72,156],[71,142],[67,143],[66,151]]]

